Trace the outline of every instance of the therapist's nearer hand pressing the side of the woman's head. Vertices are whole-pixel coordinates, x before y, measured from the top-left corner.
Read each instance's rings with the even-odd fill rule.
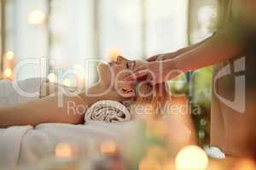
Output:
[[[125,81],[134,81],[145,77],[143,81],[148,81],[152,85],[166,82],[173,77],[177,77],[181,72],[176,70],[175,62],[172,59],[165,61],[147,62],[133,71],[133,74],[125,77]],[[146,80],[145,80],[146,79]]]

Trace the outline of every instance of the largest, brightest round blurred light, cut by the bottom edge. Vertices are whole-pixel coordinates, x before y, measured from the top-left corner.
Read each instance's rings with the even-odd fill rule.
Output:
[[[177,170],[206,170],[208,157],[200,147],[190,145],[179,151],[175,164]]]

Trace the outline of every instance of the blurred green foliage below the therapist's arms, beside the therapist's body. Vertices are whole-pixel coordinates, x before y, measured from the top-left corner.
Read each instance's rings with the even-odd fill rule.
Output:
[[[212,67],[194,71],[189,76],[182,74],[168,82],[172,94],[188,94],[192,113],[200,109],[200,114],[192,115],[199,143],[203,146],[210,140]],[[190,86],[190,87],[189,87]]]

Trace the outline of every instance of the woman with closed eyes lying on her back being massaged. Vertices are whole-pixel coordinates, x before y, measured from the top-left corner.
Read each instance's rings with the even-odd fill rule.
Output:
[[[152,105],[152,107],[150,107],[154,108],[152,113],[161,115],[160,112],[163,111],[164,107],[167,104],[172,103],[172,100],[175,100],[172,96],[166,93],[164,85],[162,85],[162,87],[157,86],[153,88],[149,83],[141,82],[139,87],[134,87],[133,84],[125,84],[122,82],[127,74],[142,65],[143,62],[145,61],[131,61],[119,56],[115,62],[110,62],[108,65],[101,63],[97,67],[99,81],[86,92],[74,96],[61,96],[63,97],[63,104],[60,106],[58,103],[58,99],[60,98],[57,93],[48,95],[50,90],[47,89],[45,94],[48,96],[44,98],[23,105],[1,109],[0,127],[3,128],[17,125],[36,126],[45,122],[81,124],[84,122],[84,113],[86,112],[84,110],[102,100],[113,100],[118,102],[131,100],[136,105]],[[43,83],[43,85],[43,88],[45,88],[45,85],[46,88],[49,88],[49,84]],[[41,89],[43,88],[41,87]],[[137,90],[138,93],[135,95],[136,88],[139,89]],[[84,107],[80,107],[79,110],[79,106],[81,105],[84,105]],[[77,108],[74,110],[73,108],[76,106]],[[104,119],[100,121],[104,121]],[[108,121],[118,120],[113,118],[113,120],[110,119]],[[188,122],[186,123],[188,127],[191,126]]]

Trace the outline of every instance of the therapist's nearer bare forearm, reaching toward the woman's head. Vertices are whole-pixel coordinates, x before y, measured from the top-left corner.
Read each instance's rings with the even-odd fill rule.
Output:
[[[241,45],[233,41],[230,36],[223,34],[220,37],[212,37],[198,48],[177,56],[172,62],[175,63],[175,67],[178,70],[194,71],[231,59],[240,53]]]

